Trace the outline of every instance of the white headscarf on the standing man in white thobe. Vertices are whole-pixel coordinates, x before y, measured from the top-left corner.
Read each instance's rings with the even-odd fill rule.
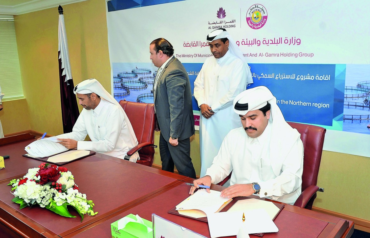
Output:
[[[211,33],[209,33],[207,35],[207,41],[209,43],[211,43],[212,41],[215,41],[217,39],[223,39],[223,38],[228,38],[228,40],[229,40],[229,51],[233,55],[235,55],[236,57],[241,59],[244,62],[245,66],[247,67],[247,71],[248,71],[247,82],[248,83],[253,83],[252,74],[250,73],[248,63],[247,63],[247,61],[245,60],[245,58],[243,56],[243,52],[240,50],[239,46],[235,43],[233,38],[231,38],[229,32],[227,32],[224,28],[219,28],[217,30],[212,31]]]

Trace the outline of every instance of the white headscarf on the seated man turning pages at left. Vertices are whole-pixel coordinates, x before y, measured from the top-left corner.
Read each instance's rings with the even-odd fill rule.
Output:
[[[132,128],[132,125],[130,123],[130,120],[128,119],[125,111],[123,110],[122,106],[118,103],[117,100],[114,99],[114,97],[107,92],[107,90],[104,89],[104,87],[99,83],[96,79],[86,79],[82,81],[81,83],[77,84],[73,89],[74,94],[80,93],[80,94],[88,94],[88,93],[95,93],[102,97],[103,99],[109,101],[110,103],[113,103],[118,106],[122,110],[122,113],[124,115],[126,124],[128,126],[128,129],[130,131],[130,139],[132,144],[138,145],[138,140],[135,136],[134,129]]]

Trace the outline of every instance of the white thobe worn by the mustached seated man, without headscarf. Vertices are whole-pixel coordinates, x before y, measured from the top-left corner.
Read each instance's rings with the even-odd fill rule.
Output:
[[[212,183],[221,182],[230,174],[230,184],[258,183],[260,197],[293,204],[301,194],[303,145],[300,139],[286,152],[283,161],[270,159],[271,124],[258,138],[250,138],[243,127],[231,130],[222,142],[218,155],[206,175]],[[281,139],[284,139],[282,135]],[[280,167],[280,168],[276,168]],[[279,170],[276,176],[273,170]]]

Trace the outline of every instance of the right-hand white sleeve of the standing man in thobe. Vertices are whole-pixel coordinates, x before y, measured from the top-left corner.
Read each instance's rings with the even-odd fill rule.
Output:
[[[230,79],[229,91],[217,102],[209,105],[212,111],[217,111],[232,106],[235,97],[246,89],[247,83],[247,69],[242,61],[236,62]]]

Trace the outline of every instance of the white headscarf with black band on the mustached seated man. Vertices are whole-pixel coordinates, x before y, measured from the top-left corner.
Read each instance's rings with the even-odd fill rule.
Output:
[[[271,138],[270,138],[270,158],[283,163],[286,153],[300,138],[299,132],[292,128],[284,119],[284,116],[276,104],[276,97],[265,86],[258,86],[252,89],[247,89],[238,94],[233,101],[235,113],[245,115],[249,111],[258,110],[270,103],[270,123]],[[276,167],[277,168],[277,167]],[[280,171],[274,171],[278,176]]]

